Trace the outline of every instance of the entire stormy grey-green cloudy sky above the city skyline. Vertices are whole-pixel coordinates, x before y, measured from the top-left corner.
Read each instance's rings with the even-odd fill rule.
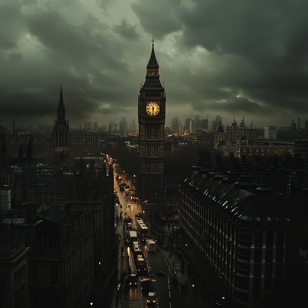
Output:
[[[155,39],[179,116],[301,126],[308,119],[308,1],[0,0],[0,125],[52,124],[63,85],[76,123],[137,119]]]

